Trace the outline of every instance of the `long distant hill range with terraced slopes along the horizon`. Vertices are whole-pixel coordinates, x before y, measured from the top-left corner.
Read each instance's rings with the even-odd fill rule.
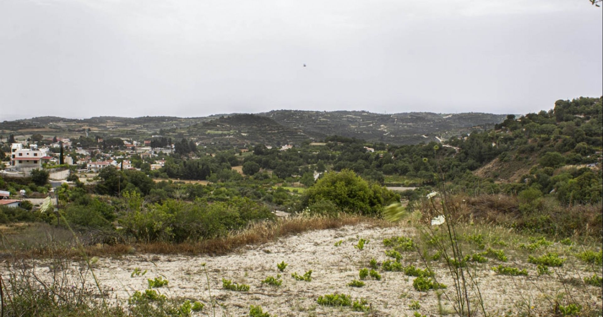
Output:
[[[275,110],[259,114],[223,114],[178,118],[111,117],[85,119],[34,117],[0,123],[0,133],[28,137],[33,132],[46,137],[78,137],[89,132],[101,137],[148,138],[164,135],[189,138],[201,143],[277,145],[318,140],[328,135],[353,137],[369,142],[416,144],[446,140],[474,129],[493,128],[504,114],[466,112],[436,114],[405,112],[376,114],[368,111]]]

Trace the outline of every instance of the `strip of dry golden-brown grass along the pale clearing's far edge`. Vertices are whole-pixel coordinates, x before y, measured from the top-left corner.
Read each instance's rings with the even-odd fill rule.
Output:
[[[131,253],[153,253],[153,254],[210,254],[223,255],[235,251],[245,245],[259,245],[278,238],[296,235],[311,230],[334,229],[343,226],[356,225],[359,223],[369,224],[371,227],[394,226],[384,220],[375,218],[343,215],[339,218],[327,217],[291,217],[274,222],[262,222],[251,225],[245,230],[233,232],[232,234],[215,239],[207,239],[199,242],[184,242],[173,244],[170,242],[153,242],[143,244],[96,244],[85,247],[87,256],[121,256]],[[51,230],[49,228],[46,228]],[[43,231],[43,230],[42,230]],[[43,234],[43,233],[40,233]],[[66,240],[69,240],[66,238]],[[17,257],[80,257],[81,250],[72,247],[72,243],[38,244],[28,248],[12,248],[5,250],[11,256]]]

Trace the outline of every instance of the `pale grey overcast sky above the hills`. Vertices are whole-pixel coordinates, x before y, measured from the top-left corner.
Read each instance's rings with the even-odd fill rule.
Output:
[[[0,120],[539,111],[603,94],[602,16],[588,0],[0,0]]]

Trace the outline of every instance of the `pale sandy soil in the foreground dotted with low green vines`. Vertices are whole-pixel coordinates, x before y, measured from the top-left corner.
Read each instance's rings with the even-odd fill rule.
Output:
[[[107,289],[110,298],[124,301],[134,291],[147,288],[147,279],[162,276],[169,280],[169,286],[157,289],[168,297],[183,297],[200,300],[206,308],[195,313],[196,316],[211,314],[209,293],[203,264],[207,268],[211,292],[221,304],[216,312],[219,316],[243,316],[249,312],[250,305],[261,305],[264,312],[274,316],[353,316],[363,313],[352,312],[349,307],[327,307],[317,305],[320,295],[340,292],[352,295],[353,299],[365,298],[373,308],[372,316],[412,316],[408,308],[412,300],[419,301],[421,313],[438,315],[438,297],[434,291],[418,292],[412,287],[414,277],[402,272],[380,271],[382,280],[365,280],[362,288],[346,286],[358,279],[358,270],[368,266],[371,257],[377,262],[390,259],[385,256],[386,248],[382,239],[394,235],[413,236],[414,229],[406,227],[374,228],[368,225],[347,226],[340,229],[319,230],[300,235],[289,236],[265,245],[248,246],[227,256],[163,256],[133,255],[120,259],[101,258],[95,263],[95,274],[100,285]],[[364,250],[353,247],[359,238],[369,239]],[[335,242],[343,241],[339,247]],[[481,294],[488,312],[503,315],[508,310],[518,312],[524,305],[533,306],[535,315],[546,312],[552,307],[552,301],[560,293],[572,294],[581,303],[592,303],[601,307],[601,289],[584,286],[581,279],[592,275],[592,271],[575,264],[555,270],[554,275],[537,277],[535,265],[517,262],[510,257],[505,265],[528,268],[529,277],[511,277],[494,274],[490,267],[498,265],[496,260],[478,265],[477,275]],[[283,284],[276,288],[262,286],[260,282],[269,275],[276,275],[277,263],[285,261],[289,265],[282,274]],[[403,265],[414,264],[420,268],[418,254],[403,253]],[[40,261],[38,270],[48,271],[48,263]],[[46,266],[46,268],[45,268]],[[77,266],[77,265],[76,265]],[[147,274],[130,277],[135,268]],[[312,281],[303,282],[292,279],[291,273],[312,269]],[[452,296],[452,279],[447,268],[435,263],[438,282],[449,286]],[[600,273],[599,273],[600,274]],[[245,283],[251,286],[248,292],[234,292],[222,289],[221,279]],[[561,283],[564,280],[566,283]],[[572,283],[579,280],[579,283]],[[569,282],[568,282],[569,281]],[[573,284],[579,286],[576,289]],[[585,291],[586,290],[586,291]],[[450,309],[450,303],[442,298],[444,308]],[[224,314],[223,314],[224,313]]]

